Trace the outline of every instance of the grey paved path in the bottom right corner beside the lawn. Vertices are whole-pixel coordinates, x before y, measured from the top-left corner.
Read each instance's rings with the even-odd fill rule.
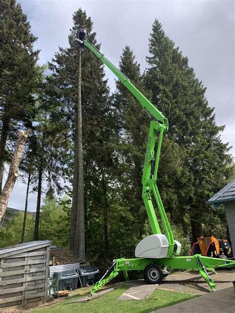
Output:
[[[235,313],[234,287],[207,293],[152,313]]]

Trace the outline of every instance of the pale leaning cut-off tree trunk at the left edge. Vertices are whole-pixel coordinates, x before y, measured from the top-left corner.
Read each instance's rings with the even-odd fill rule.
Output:
[[[10,163],[9,172],[8,172],[8,176],[7,176],[4,188],[0,194],[0,220],[5,214],[9,197],[11,195],[16,179],[18,177],[19,164],[21,162],[22,154],[24,151],[24,145],[25,145],[26,139],[28,138],[28,135],[29,135],[29,131],[24,132],[20,130],[18,132],[18,139],[17,139],[15,152],[13,154],[13,157]]]

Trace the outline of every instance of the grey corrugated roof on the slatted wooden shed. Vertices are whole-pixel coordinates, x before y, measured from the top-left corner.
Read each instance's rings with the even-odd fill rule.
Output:
[[[5,258],[12,254],[20,254],[27,251],[32,251],[36,249],[40,249],[43,247],[47,247],[51,245],[51,241],[45,240],[45,241],[30,241],[30,242],[24,242],[22,244],[18,244],[15,246],[9,246],[5,248],[0,249],[0,258]]]

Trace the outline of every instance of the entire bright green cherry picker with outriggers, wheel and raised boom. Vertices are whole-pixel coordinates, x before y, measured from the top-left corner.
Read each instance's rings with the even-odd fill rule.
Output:
[[[141,240],[135,248],[134,259],[117,259],[113,261],[111,267],[104,276],[95,284],[91,294],[107,284],[110,280],[123,272],[127,280],[127,271],[142,270],[144,279],[149,284],[160,284],[170,270],[174,269],[192,269],[198,268],[202,277],[208,283],[212,290],[216,286],[207,270],[215,272],[215,268],[235,266],[235,261],[225,259],[208,258],[201,255],[178,256],[181,244],[174,240],[167,214],[165,212],[160,193],[157,187],[157,174],[160,159],[163,134],[168,131],[169,125],[167,118],[130,82],[130,80],[121,71],[115,67],[99,50],[97,50],[87,39],[86,31],[79,30],[76,36],[79,45],[90,49],[121,81],[121,83],[131,92],[131,94],[140,102],[142,107],[152,115],[150,122],[149,135],[147,140],[147,149],[144,161],[142,176],[142,198],[147,211],[149,222],[152,229],[152,235]],[[156,136],[158,138],[157,152],[155,155]],[[155,162],[154,162],[155,159]],[[159,210],[163,232],[160,229],[152,200],[155,199],[157,209]]]

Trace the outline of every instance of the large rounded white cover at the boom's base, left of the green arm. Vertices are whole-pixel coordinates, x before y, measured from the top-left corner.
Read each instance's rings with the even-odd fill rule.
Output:
[[[169,242],[167,236],[156,234],[142,239],[135,248],[136,258],[161,259],[168,254]]]

